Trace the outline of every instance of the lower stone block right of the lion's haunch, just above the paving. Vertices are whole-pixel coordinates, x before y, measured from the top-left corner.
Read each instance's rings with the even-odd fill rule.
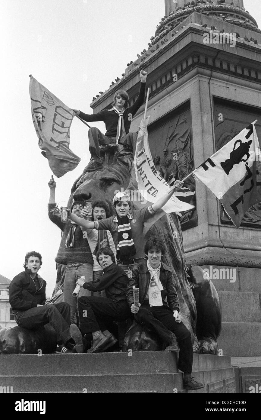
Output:
[[[217,342],[225,356],[261,356],[261,323],[224,322]]]

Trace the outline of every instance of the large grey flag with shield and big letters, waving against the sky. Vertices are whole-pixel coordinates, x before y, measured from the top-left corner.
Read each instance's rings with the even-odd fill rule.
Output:
[[[80,157],[69,149],[70,126],[75,113],[32,75],[29,93],[39,148],[43,150],[42,155],[47,157],[54,175],[59,178],[80,162]]]

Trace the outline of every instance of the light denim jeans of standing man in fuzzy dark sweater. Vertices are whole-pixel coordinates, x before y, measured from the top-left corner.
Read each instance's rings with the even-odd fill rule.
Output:
[[[72,292],[76,287],[76,281],[81,276],[85,276],[85,282],[93,281],[93,266],[85,262],[71,262],[68,263],[65,269],[65,283],[64,283],[64,302],[69,303],[71,311],[71,323],[75,322],[75,307],[76,297],[72,296]],[[91,291],[81,287],[78,297],[91,296]]]

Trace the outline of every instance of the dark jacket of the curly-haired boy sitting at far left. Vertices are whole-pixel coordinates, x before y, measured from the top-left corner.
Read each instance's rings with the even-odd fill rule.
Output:
[[[14,277],[10,283],[9,302],[14,310],[26,311],[27,309],[35,308],[37,305],[44,305],[46,301],[46,281],[39,274],[36,274],[40,284],[40,289],[36,290],[30,273],[31,270],[26,268],[26,270]]]

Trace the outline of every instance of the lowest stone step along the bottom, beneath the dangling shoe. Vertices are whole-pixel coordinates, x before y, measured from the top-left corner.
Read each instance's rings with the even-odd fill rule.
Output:
[[[198,392],[207,392],[209,383],[230,380],[233,368],[216,369],[211,372],[194,372],[197,381],[204,383]],[[183,390],[182,373],[155,373],[143,375],[44,375],[0,376],[0,386],[13,393],[34,392],[160,392],[173,393]],[[193,391],[194,392],[194,391]]]

